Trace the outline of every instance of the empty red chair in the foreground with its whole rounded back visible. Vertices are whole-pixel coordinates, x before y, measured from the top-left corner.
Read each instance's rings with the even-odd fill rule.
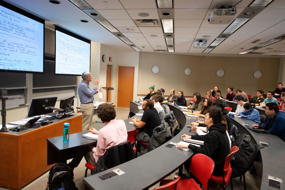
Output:
[[[214,171],[214,161],[205,154],[195,154],[191,159],[190,171],[195,177],[202,183],[205,189],[209,190],[209,182]],[[160,185],[167,184],[172,179],[164,179],[160,182]],[[201,190],[199,185],[194,179],[180,180],[177,183],[176,189],[191,189]]]

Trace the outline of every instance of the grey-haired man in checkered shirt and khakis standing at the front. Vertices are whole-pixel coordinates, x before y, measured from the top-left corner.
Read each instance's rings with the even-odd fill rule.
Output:
[[[89,72],[84,72],[81,75],[83,81],[78,86],[78,95],[80,99],[80,111],[82,112],[82,132],[91,129],[93,111],[94,111],[94,95],[100,90],[97,90],[99,84],[98,79],[94,82],[94,87],[91,89],[89,82],[92,81],[91,74]]]

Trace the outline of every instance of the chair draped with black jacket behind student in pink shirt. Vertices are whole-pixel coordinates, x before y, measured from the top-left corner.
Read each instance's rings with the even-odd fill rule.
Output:
[[[108,148],[104,155],[100,156],[97,161],[97,166],[91,165],[89,162],[85,164],[85,177],[87,176],[88,169],[91,170],[91,175],[99,173],[111,167],[118,166],[136,158],[133,146],[128,140],[121,144]]]

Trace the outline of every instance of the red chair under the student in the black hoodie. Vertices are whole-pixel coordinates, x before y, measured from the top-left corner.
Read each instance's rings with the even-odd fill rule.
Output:
[[[226,189],[226,185],[228,185],[229,179],[231,179],[231,190],[233,190],[233,182],[232,182],[232,177],[231,177],[231,173],[232,173],[232,169],[231,169],[231,157],[233,156],[233,154],[235,152],[237,152],[239,150],[239,147],[237,146],[233,146],[233,148],[231,148],[231,153],[225,158],[225,164],[224,164],[224,173],[222,176],[214,176],[212,175],[211,180],[215,181],[216,183],[219,183],[220,185],[223,185],[223,189]]]

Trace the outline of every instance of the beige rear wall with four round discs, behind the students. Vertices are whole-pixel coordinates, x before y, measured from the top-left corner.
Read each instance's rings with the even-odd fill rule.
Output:
[[[280,58],[200,57],[140,52],[138,94],[148,93],[148,87],[154,85],[155,90],[164,88],[167,96],[172,88],[176,95],[182,90],[185,96],[193,96],[194,92],[204,96],[207,90],[217,85],[224,97],[228,86],[233,86],[234,92],[240,88],[254,96],[257,89],[264,92],[276,89],[279,62]],[[152,72],[153,66],[159,67],[158,73]],[[184,74],[186,68],[191,69],[190,75]],[[216,74],[219,69],[225,72],[222,77]],[[261,71],[262,77],[256,79],[253,76],[255,71]]]

